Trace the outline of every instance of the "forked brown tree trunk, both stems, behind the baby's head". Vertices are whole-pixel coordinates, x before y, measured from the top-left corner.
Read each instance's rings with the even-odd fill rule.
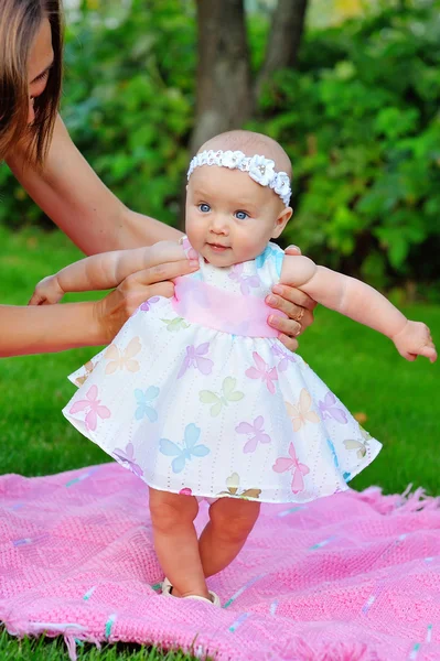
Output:
[[[262,85],[278,69],[294,66],[308,0],[278,0],[266,62],[254,88],[244,0],[196,0],[197,97],[190,155],[213,136],[239,129],[251,118]],[[180,227],[184,227],[185,183]]]

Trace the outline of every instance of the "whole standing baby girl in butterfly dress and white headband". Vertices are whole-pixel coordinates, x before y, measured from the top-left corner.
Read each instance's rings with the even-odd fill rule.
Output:
[[[159,254],[200,269],[171,300],[146,301],[114,343],[72,376],[65,416],[149,486],[163,592],[219,605],[206,578],[238,554],[261,502],[305,502],[347,489],[378,454],[312,369],[266,323],[275,283],[389,337],[404,358],[437,359],[429,329],[358,280],[285,256],[291,165],[270,138],[232,131],[204,144],[189,170],[181,243],[94,256],[39,285],[110,288]],[[200,539],[198,502],[210,503]]]

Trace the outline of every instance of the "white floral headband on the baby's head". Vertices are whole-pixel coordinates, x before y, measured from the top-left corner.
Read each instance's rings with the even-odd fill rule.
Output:
[[[242,170],[248,172],[249,176],[260,184],[269,186],[282,199],[288,207],[292,191],[290,188],[290,178],[286,172],[275,172],[275,162],[265,156],[246,156],[240,151],[203,151],[196,154],[190,163],[187,178],[196,167],[201,165],[219,165],[229,167],[229,170]]]

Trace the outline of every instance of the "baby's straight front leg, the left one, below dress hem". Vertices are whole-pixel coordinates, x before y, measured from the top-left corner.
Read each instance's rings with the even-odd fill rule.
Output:
[[[210,598],[198,554],[194,519],[198,503],[192,496],[150,487],[150,513],[154,548],[173,595]]]

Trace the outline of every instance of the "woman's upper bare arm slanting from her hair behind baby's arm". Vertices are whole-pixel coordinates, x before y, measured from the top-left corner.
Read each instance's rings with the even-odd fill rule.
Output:
[[[8,165],[43,212],[86,254],[179,240],[176,229],[128,209],[76,149],[61,117],[42,172],[18,148]]]

